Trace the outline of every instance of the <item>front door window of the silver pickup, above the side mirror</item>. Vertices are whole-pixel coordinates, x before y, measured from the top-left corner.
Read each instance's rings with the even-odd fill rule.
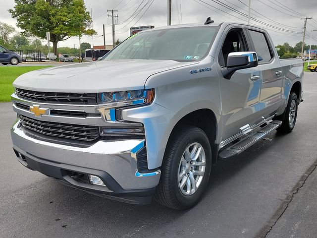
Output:
[[[219,64],[223,67],[227,64],[227,58],[231,52],[247,51],[241,29],[232,29],[224,39],[221,51],[219,53]]]

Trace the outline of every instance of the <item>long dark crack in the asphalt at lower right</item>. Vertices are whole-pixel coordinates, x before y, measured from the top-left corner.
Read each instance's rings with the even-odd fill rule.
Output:
[[[276,210],[276,212],[273,214],[269,222],[261,229],[261,231],[256,235],[256,238],[265,238],[268,233],[272,230],[272,228],[275,226],[277,221],[283,216],[284,212],[292,202],[294,195],[300,191],[300,189],[304,186],[306,180],[309,178],[309,176],[314,172],[314,170],[317,168],[317,160],[311,165],[307,171],[304,173],[304,175],[301,177],[301,179],[296,183],[296,185],[293,187],[292,191],[287,195],[287,197],[283,200],[282,204],[279,206],[279,208]]]

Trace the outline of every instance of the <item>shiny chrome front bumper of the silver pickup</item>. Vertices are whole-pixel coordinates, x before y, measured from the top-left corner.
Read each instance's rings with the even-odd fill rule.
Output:
[[[19,127],[19,120],[11,128],[11,137],[17,151],[60,165],[106,172],[122,189],[153,188],[159,183],[159,170],[148,174],[137,170],[136,153],[144,146],[142,139],[100,140],[80,148],[37,139]]]

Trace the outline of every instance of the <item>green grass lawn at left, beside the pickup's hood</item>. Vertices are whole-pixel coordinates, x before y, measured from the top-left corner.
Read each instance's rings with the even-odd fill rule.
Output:
[[[10,102],[14,92],[13,81],[23,73],[51,66],[5,66],[0,67],[0,102]]]

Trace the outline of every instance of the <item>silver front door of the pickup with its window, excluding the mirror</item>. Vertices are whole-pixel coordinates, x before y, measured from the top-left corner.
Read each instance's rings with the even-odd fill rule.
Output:
[[[218,53],[218,74],[220,77],[222,142],[232,137],[247,133],[261,118],[259,100],[261,83],[259,67],[237,70],[230,79],[222,76],[221,69],[226,67],[228,54],[231,52],[250,51],[250,42],[246,30],[241,27],[229,28],[224,31]],[[216,55],[217,57],[217,55]]]

